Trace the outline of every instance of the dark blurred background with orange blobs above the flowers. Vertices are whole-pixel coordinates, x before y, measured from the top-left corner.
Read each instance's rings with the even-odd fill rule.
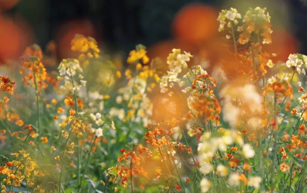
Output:
[[[217,32],[218,12],[233,7],[244,16],[257,6],[272,16],[273,45],[266,49],[287,59],[290,53],[307,54],[306,5],[305,0],[0,0],[0,63],[20,57],[32,43],[58,60],[68,58],[76,33],[123,57],[142,43],[149,56],[163,58],[178,47],[214,60],[227,54],[221,51],[225,36]]]

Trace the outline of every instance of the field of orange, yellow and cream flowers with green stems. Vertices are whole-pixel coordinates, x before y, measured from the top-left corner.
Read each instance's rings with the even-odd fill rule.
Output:
[[[307,192],[307,56],[262,49],[266,8],[215,19],[229,57],[210,70],[142,44],[121,67],[81,34],[54,69],[27,47],[0,76],[1,192]]]

